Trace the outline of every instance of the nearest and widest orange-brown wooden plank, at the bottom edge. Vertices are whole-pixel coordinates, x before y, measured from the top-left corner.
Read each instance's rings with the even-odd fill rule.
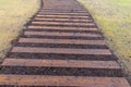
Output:
[[[130,87],[124,77],[83,77],[43,75],[0,75],[0,85],[13,86],[81,86]]]

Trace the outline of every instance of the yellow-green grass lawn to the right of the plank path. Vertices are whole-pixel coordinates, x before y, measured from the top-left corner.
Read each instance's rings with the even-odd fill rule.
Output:
[[[79,0],[100,27],[131,77],[131,0]]]

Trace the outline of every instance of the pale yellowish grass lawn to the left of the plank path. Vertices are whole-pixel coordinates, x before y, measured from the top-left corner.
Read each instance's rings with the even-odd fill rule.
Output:
[[[39,8],[39,0],[0,0],[0,58]]]

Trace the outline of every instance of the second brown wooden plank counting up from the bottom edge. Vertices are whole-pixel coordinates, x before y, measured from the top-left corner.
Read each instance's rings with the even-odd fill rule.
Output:
[[[120,69],[116,61],[76,61],[76,60],[41,60],[7,58],[1,65],[5,66],[48,66],[48,67],[86,67]]]

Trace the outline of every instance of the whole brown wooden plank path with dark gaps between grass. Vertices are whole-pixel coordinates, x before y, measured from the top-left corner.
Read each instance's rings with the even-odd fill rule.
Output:
[[[0,87],[131,87],[76,0],[41,0],[0,70]]]

